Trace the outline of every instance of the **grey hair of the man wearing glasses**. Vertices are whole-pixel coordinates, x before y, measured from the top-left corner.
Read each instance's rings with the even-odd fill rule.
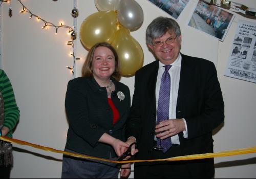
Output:
[[[153,40],[163,36],[166,32],[181,35],[179,24],[172,18],[157,17],[146,29],[146,43],[153,45]]]

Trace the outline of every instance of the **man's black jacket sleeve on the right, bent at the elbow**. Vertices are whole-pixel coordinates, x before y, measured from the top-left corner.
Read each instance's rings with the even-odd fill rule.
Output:
[[[204,86],[201,86],[203,89],[201,113],[197,116],[185,118],[188,139],[212,131],[224,121],[224,102],[214,63],[210,62],[204,71]]]

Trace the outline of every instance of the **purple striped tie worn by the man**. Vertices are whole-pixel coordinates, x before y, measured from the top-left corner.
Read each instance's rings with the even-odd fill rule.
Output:
[[[169,119],[169,102],[170,102],[170,74],[169,69],[172,65],[165,65],[165,71],[163,73],[159,91],[158,107],[157,107],[157,122],[165,121]],[[160,139],[157,138],[157,145],[160,144]],[[171,146],[172,141],[166,138],[161,141],[161,145],[165,148],[163,152],[165,153]]]

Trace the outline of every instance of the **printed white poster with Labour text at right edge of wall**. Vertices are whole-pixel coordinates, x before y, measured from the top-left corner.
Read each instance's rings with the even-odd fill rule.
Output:
[[[256,23],[238,21],[225,76],[256,83]]]

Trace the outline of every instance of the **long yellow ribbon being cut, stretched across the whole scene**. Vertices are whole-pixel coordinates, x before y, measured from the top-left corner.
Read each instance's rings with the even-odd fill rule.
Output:
[[[97,158],[97,157],[89,156],[89,155],[82,155],[82,154],[77,154],[77,153],[72,153],[72,152],[67,152],[67,151],[62,151],[62,150],[56,150],[54,148],[44,147],[44,146],[32,144],[32,143],[25,142],[25,141],[20,141],[20,140],[17,140],[17,139],[12,139],[12,138],[8,138],[8,137],[4,137],[4,136],[1,136],[0,140],[10,142],[10,143],[14,143],[14,144],[19,144],[19,145],[27,145],[27,146],[31,146],[31,147],[38,148],[38,149],[45,150],[45,151],[51,151],[51,152],[55,152],[55,153],[62,153],[62,154],[70,155],[70,156],[75,156],[77,158],[93,159],[93,160],[112,162],[112,163],[136,163],[136,162],[155,162],[155,161],[185,161],[185,160],[217,158],[217,157],[231,156],[231,155],[241,155],[241,154],[247,154],[247,153],[256,153],[256,146],[255,146],[255,147],[250,147],[250,148],[243,148],[243,149],[237,149],[237,150],[227,150],[227,151],[216,152],[216,153],[204,153],[204,154],[176,156],[176,157],[168,158],[168,159],[112,161],[112,160]]]

